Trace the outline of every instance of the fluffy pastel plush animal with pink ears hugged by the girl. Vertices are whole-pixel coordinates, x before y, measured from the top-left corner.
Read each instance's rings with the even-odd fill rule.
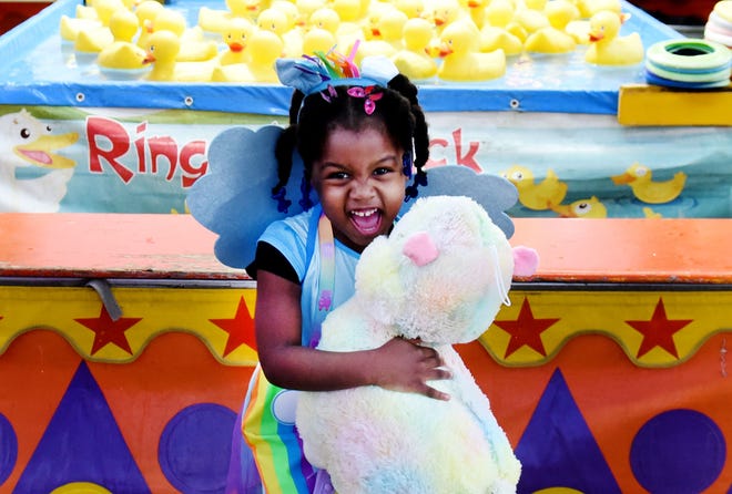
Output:
[[[517,249],[519,249],[517,247]],[[520,463],[486,395],[451,347],[485,332],[515,272],[516,257],[485,209],[462,196],[418,199],[356,268],[355,295],[328,315],[318,348],[377,348],[419,338],[453,373],[430,382],[449,401],[376,385],[302,392],[296,424],[305,455],[338,493],[512,493]]]

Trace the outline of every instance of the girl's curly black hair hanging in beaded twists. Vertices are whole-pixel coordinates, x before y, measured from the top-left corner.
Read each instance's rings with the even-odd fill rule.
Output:
[[[429,158],[429,133],[425,113],[417,100],[417,86],[403,74],[397,74],[386,88],[376,88],[382,97],[376,101],[374,113],[364,111],[364,100],[349,96],[349,86],[334,86],[335,94],[324,97],[321,93],[305,96],[295,90],[289,105],[289,126],[279,135],[275,147],[277,184],[273,197],[284,200],[284,186],[292,171],[293,151],[297,150],[309,182],[313,163],[323,156],[325,142],[335,128],[385,131],[395,146],[405,150],[416,168],[413,185],[407,187],[405,199],[416,197],[417,185],[427,183],[424,166]],[[327,90],[326,90],[327,91]],[[411,156],[414,145],[414,156]]]

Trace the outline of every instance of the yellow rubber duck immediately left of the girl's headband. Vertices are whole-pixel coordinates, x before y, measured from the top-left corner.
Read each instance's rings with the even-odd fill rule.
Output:
[[[255,29],[248,41],[248,63],[216,66],[212,72],[215,82],[277,82],[275,60],[282,54],[282,38],[265,29]]]

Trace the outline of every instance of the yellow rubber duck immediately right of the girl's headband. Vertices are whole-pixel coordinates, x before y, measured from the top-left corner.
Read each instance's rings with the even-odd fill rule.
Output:
[[[425,81],[437,75],[437,62],[428,54],[434,39],[434,27],[426,19],[408,19],[403,30],[404,49],[392,61],[413,81]]]

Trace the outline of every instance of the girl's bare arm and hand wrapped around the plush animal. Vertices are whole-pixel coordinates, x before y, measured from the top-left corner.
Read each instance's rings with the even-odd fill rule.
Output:
[[[301,286],[272,272],[257,272],[256,343],[262,370],[273,384],[333,391],[376,384],[430,398],[449,397],[427,381],[449,379],[431,348],[404,339],[356,352],[327,352],[301,346]]]

